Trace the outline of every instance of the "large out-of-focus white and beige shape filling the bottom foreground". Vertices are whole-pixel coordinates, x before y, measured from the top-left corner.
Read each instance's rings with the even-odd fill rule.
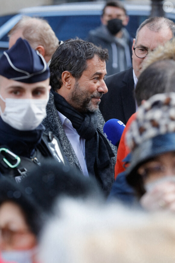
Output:
[[[62,200],[40,239],[42,263],[174,263],[175,222],[119,205]]]

